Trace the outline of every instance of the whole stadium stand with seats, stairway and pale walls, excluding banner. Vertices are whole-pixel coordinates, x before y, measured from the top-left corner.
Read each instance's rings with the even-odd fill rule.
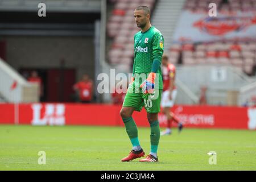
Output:
[[[170,57],[170,62],[177,66],[176,84],[180,93],[177,96],[177,104],[198,104],[202,85],[208,88],[207,100],[210,105],[244,105],[247,100],[253,101],[256,88],[254,85],[256,40],[246,37],[193,42],[181,38],[180,42],[175,42],[174,34],[177,31],[175,30],[177,23],[180,22],[179,17],[184,11],[208,16],[209,3],[216,3],[218,12],[233,16],[237,11],[254,12],[255,2],[255,0],[147,1],[151,10],[154,10],[151,22],[164,35],[164,52]],[[133,36],[138,32],[134,24],[133,12],[136,6],[143,5],[146,1],[138,1],[137,5],[129,0],[116,0],[110,3],[114,3],[114,6],[108,18],[107,35],[110,38],[110,49],[106,54],[112,67],[122,65],[130,71],[133,63]],[[214,82],[212,77],[203,76],[209,75],[208,73],[216,67],[225,69],[224,82]],[[191,79],[187,78],[188,73]],[[222,87],[223,89],[220,90]]]

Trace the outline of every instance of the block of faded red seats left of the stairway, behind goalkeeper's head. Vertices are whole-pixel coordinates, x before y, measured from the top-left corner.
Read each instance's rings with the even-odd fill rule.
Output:
[[[113,39],[108,60],[110,64],[125,63],[127,67],[133,61],[133,39],[139,28],[134,23],[134,10],[140,5],[152,10],[155,0],[112,0],[114,9],[108,19],[107,34]]]

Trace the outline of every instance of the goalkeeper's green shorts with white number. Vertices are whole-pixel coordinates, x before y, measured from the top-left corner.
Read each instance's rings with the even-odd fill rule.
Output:
[[[135,86],[135,82],[129,85],[123,107],[134,107],[135,110],[141,111],[143,106],[147,113],[159,113],[162,89],[155,89],[152,94],[143,94],[139,86]]]

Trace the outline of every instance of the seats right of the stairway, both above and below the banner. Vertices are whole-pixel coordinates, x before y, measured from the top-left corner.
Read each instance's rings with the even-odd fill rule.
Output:
[[[234,11],[256,12],[256,0],[187,0],[183,10],[208,13],[209,3],[216,3],[218,11],[228,14],[233,14]],[[208,43],[172,44],[166,53],[174,64],[230,64],[251,75],[256,68],[255,52],[256,40],[234,39]]]

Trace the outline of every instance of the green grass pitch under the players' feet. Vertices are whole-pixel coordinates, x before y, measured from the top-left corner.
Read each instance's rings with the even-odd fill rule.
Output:
[[[150,152],[150,128],[139,139]],[[121,162],[131,150],[123,127],[0,125],[0,170],[255,170],[255,131],[187,129],[160,138],[159,163]],[[38,152],[46,164],[38,164]],[[209,151],[217,152],[210,165]]]

